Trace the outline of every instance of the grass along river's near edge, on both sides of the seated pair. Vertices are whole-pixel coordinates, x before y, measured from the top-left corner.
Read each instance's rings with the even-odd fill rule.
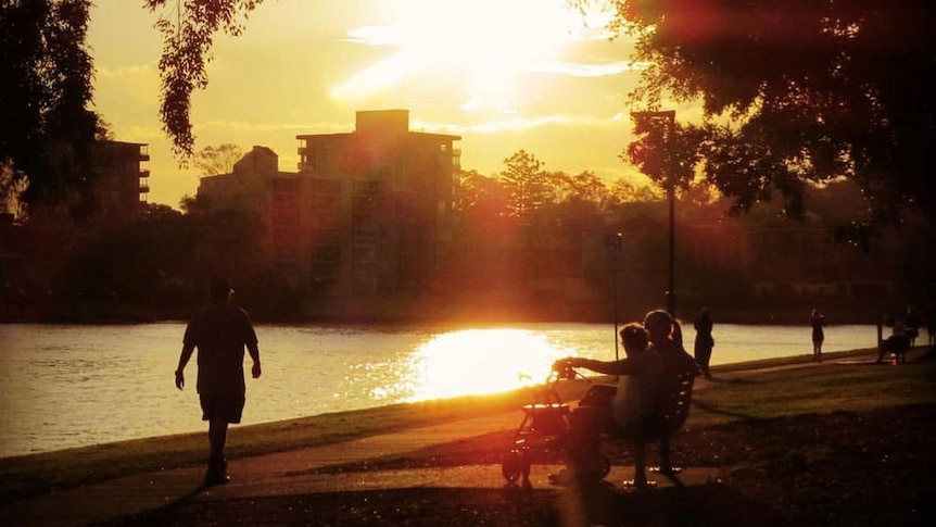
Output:
[[[797,415],[936,404],[936,361],[918,360],[894,367],[834,364],[867,359],[869,353],[862,350],[829,354],[821,367],[813,367],[809,357],[800,356],[713,368],[713,380],[699,380],[696,385],[687,428],[697,431]],[[920,355],[922,349],[911,352],[909,357]],[[566,400],[577,399],[587,388],[583,381],[560,386]],[[241,426],[232,430],[228,451],[230,457],[241,457],[517,412],[529,397],[518,390]],[[189,434],[8,457],[0,466],[0,499],[7,501],[130,473],[202,464],[204,455],[204,435]]]

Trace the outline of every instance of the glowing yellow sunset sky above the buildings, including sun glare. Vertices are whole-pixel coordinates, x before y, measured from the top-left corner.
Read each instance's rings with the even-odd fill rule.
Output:
[[[141,3],[94,2],[96,110],[117,140],[149,143],[149,201],[178,206],[198,173],[178,167],[161,129],[162,40]],[[548,171],[634,177],[618,154],[640,67],[605,22],[564,0],[266,0],[241,37],[215,42],[208,87],[193,97],[195,150],[265,146],[292,172],[296,135],[406,109],[412,130],[463,137],[465,170],[495,175],[523,149]]]

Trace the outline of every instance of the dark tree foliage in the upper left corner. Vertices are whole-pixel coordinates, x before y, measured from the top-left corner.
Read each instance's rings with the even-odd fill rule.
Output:
[[[54,204],[88,188],[99,131],[86,48],[90,0],[0,3],[0,163],[28,181],[26,204]]]

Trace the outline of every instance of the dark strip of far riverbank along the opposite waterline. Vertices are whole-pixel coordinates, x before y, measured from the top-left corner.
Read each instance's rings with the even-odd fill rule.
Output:
[[[188,305],[173,309],[154,309],[146,305],[116,302],[84,302],[69,308],[55,305],[53,309],[0,311],[0,324],[40,323],[40,324],[152,324],[185,322],[198,306],[198,300]],[[517,298],[498,294],[484,299],[471,296],[460,299],[439,298],[423,300],[370,300],[366,303],[347,303],[320,306],[316,310],[277,312],[249,303],[242,304],[255,323],[261,324],[324,324],[324,325],[442,325],[442,326],[490,326],[504,324],[610,324],[617,316],[620,323],[641,319],[646,309],[636,305],[619,306],[618,312],[602,301],[600,303],[572,304],[568,301],[547,302],[542,298]],[[716,324],[744,325],[794,325],[809,326],[809,312],[813,305],[826,313],[831,325],[872,324],[883,325],[888,316],[896,313],[881,311],[872,303],[855,302],[849,299],[826,298],[813,301],[763,301],[748,302],[744,306],[717,305],[712,309]],[[691,322],[698,315],[701,306],[696,300],[682,304],[679,317]],[[659,305],[662,308],[662,304]],[[925,327],[923,328],[925,331]]]

